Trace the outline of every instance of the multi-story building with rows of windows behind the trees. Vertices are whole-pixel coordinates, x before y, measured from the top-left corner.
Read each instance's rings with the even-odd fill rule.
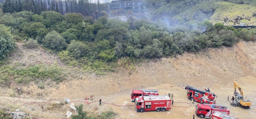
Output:
[[[144,13],[146,9],[146,0],[112,0],[108,4],[109,10],[123,9],[125,12]]]

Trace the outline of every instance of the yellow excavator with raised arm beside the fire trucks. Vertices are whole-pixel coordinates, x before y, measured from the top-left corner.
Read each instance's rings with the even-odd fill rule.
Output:
[[[240,94],[236,92],[236,87],[240,91]],[[244,107],[245,109],[248,109],[252,105],[251,101],[244,98],[244,93],[243,93],[242,89],[240,88],[239,84],[236,83],[235,80],[234,80],[234,96],[235,96],[234,100],[230,101],[230,104],[233,105],[234,107],[239,105],[239,106]]]

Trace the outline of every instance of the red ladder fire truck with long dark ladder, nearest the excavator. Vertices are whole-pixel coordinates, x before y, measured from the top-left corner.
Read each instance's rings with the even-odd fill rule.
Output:
[[[186,86],[185,90],[187,90],[187,95],[189,100],[194,100],[195,102],[203,103],[203,104],[215,104],[216,100],[214,93],[208,92],[208,91],[203,91],[197,88],[193,88],[191,86]],[[205,97],[205,96],[208,97]]]

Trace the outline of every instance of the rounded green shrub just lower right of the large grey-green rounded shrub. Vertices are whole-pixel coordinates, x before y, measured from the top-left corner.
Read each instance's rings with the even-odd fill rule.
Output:
[[[89,47],[82,42],[72,40],[68,45],[67,51],[75,58],[86,56],[89,52]]]

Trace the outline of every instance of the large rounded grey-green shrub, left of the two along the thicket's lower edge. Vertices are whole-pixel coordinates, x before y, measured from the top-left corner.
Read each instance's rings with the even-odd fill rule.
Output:
[[[44,37],[43,44],[45,47],[54,51],[61,51],[67,47],[67,43],[65,42],[64,38],[56,31],[49,32]]]

